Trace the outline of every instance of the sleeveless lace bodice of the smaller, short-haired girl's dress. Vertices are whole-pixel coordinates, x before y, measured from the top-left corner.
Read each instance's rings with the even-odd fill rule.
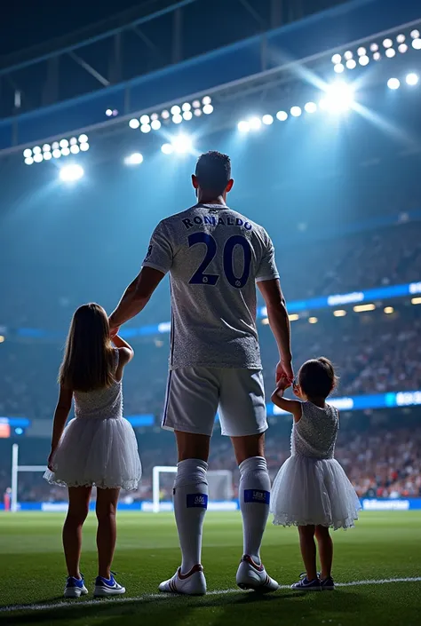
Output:
[[[329,404],[319,408],[312,402],[303,402],[301,419],[292,426],[291,455],[333,458],[338,426],[337,408]]]

